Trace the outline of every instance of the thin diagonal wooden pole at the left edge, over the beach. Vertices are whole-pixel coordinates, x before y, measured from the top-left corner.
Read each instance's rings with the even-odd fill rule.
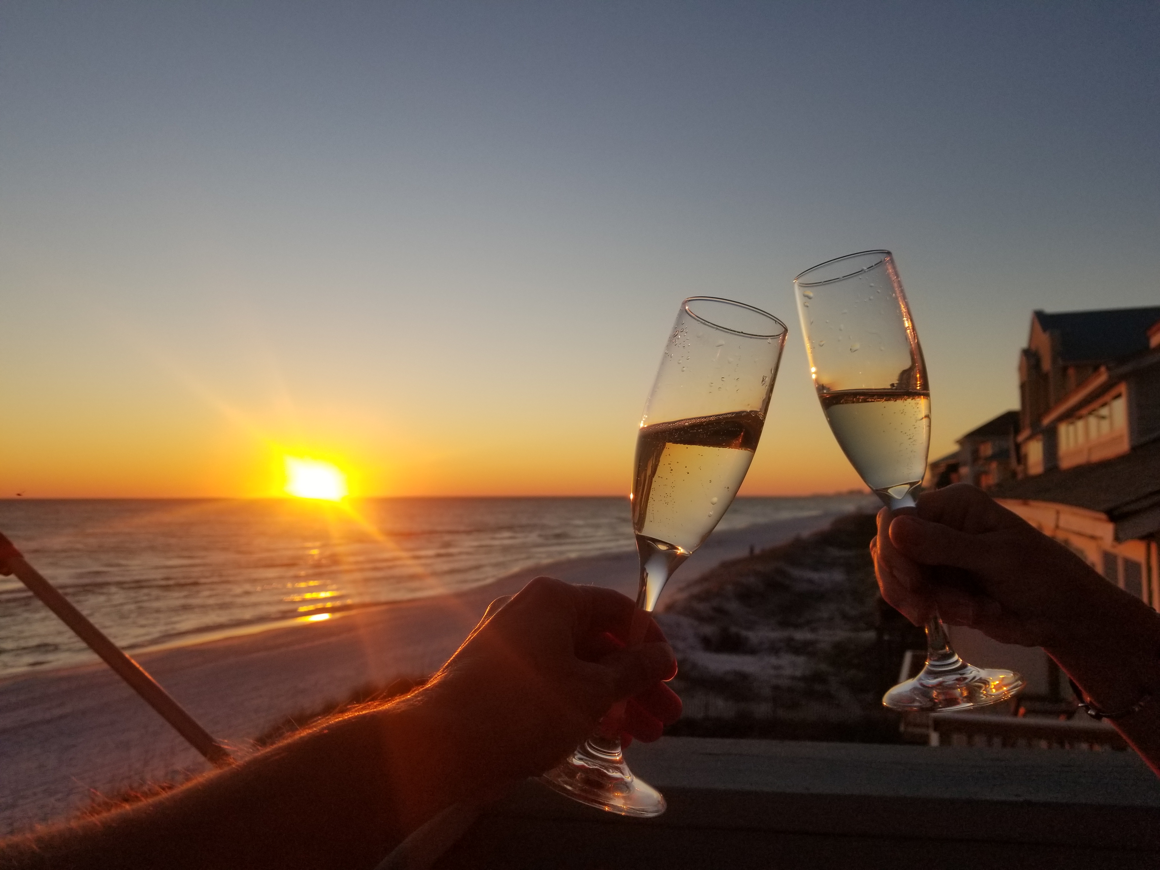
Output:
[[[148,675],[148,673],[125,655],[121,647],[107,638],[100,629],[88,621],[80,610],[61,595],[57,588],[45,580],[41,573],[29,565],[13,543],[0,534],[0,574],[15,574],[45,607],[56,614],[60,621],[88,644],[89,648],[100,655],[104,664],[113,668],[145,703],[169,723],[179,734],[189,741],[208,761],[218,767],[233,761],[230,753],[205,731],[184,708],[174,701],[169,694]]]

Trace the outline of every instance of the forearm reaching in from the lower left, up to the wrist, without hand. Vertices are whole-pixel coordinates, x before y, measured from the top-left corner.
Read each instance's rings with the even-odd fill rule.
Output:
[[[412,697],[332,720],[155,800],[0,851],[13,868],[374,867],[484,783]]]

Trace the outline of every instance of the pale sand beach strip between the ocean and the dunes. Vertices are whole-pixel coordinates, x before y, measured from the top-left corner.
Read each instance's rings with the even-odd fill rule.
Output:
[[[681,568],[665,596],[726,559],[829,523],[835,514],[722,531]],[[239,753],[285,716],[340,701],[367,683],[436,669],[488,602],[539,574],[635,595],[636,553],[519,571],[458,595],[386,604],[293,628],[143,653],[138,660],[215,737]],[[208,769],[103,665],[0,682],[0,835],[59,819],[94,792]]]

